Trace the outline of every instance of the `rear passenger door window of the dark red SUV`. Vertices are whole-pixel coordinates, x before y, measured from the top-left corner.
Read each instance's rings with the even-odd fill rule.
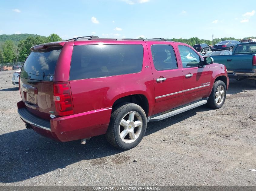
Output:
[[[170,70],[178,68],[175,53],[171,45],[152,45],[151,53],[156,70]]]

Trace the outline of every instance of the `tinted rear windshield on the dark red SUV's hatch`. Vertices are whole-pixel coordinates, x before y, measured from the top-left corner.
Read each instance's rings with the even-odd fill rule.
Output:
[[[61,48],[62,46],[58,46],[31,52],[22,67],[20,77],[52,81]]]

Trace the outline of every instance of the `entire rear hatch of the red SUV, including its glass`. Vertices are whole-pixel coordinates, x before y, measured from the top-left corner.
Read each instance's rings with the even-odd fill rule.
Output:
[[[20,92],[27,109],[50,120],[56,114],[53,98],[53,79],[62,46],[34,49],[26,59],[20,74]]]

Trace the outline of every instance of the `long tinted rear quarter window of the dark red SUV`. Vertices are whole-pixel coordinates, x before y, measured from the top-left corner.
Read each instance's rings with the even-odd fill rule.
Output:
[[[140,44],[98,44],[74,46],[70,80],[100,78],[141,72]]]

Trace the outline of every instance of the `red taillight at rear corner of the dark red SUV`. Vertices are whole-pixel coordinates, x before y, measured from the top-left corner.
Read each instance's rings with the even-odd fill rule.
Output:
[[[53,84],[53,97],[55,110],[58,113],[58,116],[74,114],[69,81],[55,82]]]

